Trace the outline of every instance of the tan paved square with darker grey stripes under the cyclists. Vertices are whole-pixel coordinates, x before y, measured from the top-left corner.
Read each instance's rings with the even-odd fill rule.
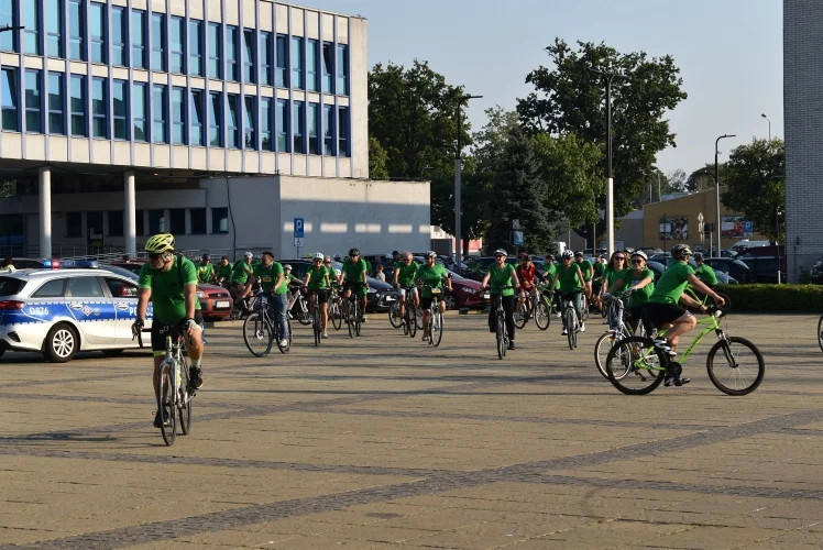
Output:
[[[147,352],[0,359],[0,548],[820,548],[813,316],[733,316],[767,373],[617,393],[552,320],[496,358],[479,315],[440,348],[384,315],[256,359],[208,331],[193,433],[163,444]],[[710,340],[713,336],[707,337]],[[687,339],[688,341],[688,339]]]

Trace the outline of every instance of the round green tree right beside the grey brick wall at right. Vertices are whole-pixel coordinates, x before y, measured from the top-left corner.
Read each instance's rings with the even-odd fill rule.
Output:
[[[783,239],[777,218],[786,205],[786,151],[783,141],[775,138],[753,140],[736,147],[726,163],[727,174],[721,179],[726,185],[723,204],[751,220],[758,233],[771,241]]]

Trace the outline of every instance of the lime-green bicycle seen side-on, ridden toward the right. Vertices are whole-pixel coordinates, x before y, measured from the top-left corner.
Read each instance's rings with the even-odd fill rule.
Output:
[[[706,327],[689,345],[680,362],[673,361],[668,352],[661,350],[651,338],[629,337],[616,342],[606,358],[608,382],[627,395],[649,394],[660,385],[667,373],[680,376],[683,371],[682,364],[703,338],[713,331],[717,336],[717,342],[709,350],[706,359],[709,380],[724,394],[735,396],[750,394],[762,382],[766,374],[766,364],[760,350],[755,344],[745,338],[729,337],[721,329],[718,319],[724,316],[722,309],[710,308],[709,317],[698,321],[698,324],[705,324]],[[663,337],[666,331],[660,332],[658,338]],[[738,348],[734,348],[735,345]],[[757,362],[757,372],[754,375],[747,375],[748,371],[740,361],[740,354],[745,352],[750,352]],[[722,358],[726,360],[726,366],[729,369],[728,378],[724,381],[721,381],[726,375],[720,373],[722,360],[718,358],[718,353],[722,353]],[[716,366],[715,362],[718,363]],[[636,382],[637,386],[632,386],[633,382]]]

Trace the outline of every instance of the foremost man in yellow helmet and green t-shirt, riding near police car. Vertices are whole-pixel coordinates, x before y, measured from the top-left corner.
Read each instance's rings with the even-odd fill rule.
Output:
[[[149,301],[153,306],[152,351],[154,353],[154,397],[160,393],[160,365],[166,354],[166,334],[172,327],[180,327],[186,336],[186,350],[191,360],[189,383],[195,389],[202,387],[202,334],[200,301],[197,299],[197,270],[190,260],[175,254],[174,235],[161,233],[145,243],[149,262],[140,270],[140,298],[138,318],[132,333],[143,330]],[[174,414],[174,411],[172,411]],[[154,427],[161,428],[161,414],[154,417]]]

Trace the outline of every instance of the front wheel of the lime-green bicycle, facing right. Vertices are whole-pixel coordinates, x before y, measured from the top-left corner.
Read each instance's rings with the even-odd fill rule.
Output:
[[[728,337],[709,351],[706,370],[709,380],[724,394],[748,395],[762,382],[766,364],[755,344],[745,338]]]

